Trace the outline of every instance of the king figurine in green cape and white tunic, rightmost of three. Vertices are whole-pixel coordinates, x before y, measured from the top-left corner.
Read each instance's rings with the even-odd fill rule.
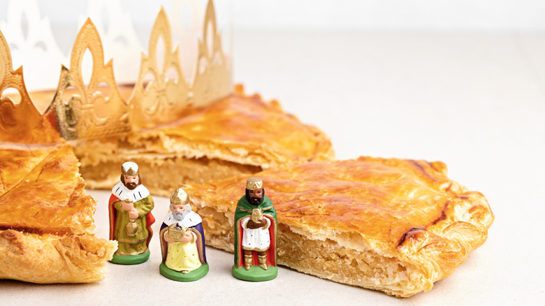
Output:
[[[263,181],[250,177],[246,194],[235,211],[235,265],[233,276],[252,282],[275,279],[277,219],[273,202],[265,196]]]

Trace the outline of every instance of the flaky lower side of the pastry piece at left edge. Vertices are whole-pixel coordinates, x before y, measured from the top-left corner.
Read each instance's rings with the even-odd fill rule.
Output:
[[[0,231],[0,279],[38,284],[86,283],[104,278],[117,241],[91,234],[37,235]]]

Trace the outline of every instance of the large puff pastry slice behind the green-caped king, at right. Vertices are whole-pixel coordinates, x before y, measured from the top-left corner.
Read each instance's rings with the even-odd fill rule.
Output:
[[[270,169],[278,262],[335,282],[407,297],[428,291],[484,243],[494,216],[441,162],[360,157]],[[247,177],[187,184],[207,243],[233,252]]]

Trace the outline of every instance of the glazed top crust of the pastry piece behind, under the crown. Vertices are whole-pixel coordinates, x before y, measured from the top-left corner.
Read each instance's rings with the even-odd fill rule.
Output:
[[[330,141],[319,129],[286,114],[276,101],[245,96],[242,87],[237,92],[208,107],[190,108],[170,124],[129,134],[120,152],[176,152],[262,168],[333,159]]]

